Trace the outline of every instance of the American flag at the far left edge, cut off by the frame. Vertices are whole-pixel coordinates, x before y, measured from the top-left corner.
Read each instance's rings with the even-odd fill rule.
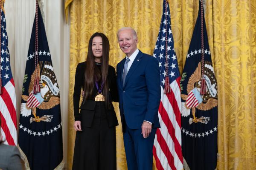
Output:
[[[5,144],[17,145],[16,97],[15,85],[12,78],[8,37],[6,32],[6,19],[1,9],[1,54],[0,54],[0,81],[2,94],[0,94],[1,135]]]

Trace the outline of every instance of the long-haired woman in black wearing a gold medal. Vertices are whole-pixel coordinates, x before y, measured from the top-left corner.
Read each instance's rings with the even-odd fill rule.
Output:
[[[116,126],[112,101],[118,102],[116,71],[108,65],[108,38],[90,37],[86,62],[76,68],[74,128],[76,142],[73,170],[116,170]],[[83,88],[83,101],[79,100]]]

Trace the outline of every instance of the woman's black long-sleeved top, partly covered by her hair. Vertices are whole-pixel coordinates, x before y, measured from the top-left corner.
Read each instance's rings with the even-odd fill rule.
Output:
[[[81,88],[84,90],[84,71],[86,68],[86,62],[81,62],[76,67],[76,77],[75,77],[75,87],[74,87],[74,94],[73,94],[73,105],[74,105],[74,116],[75,121],[81,120],[79,114],[79,101],[81,96]],[[101,67],[99,63],[95,63],[96,67]],[[108,66],[108,87],[109,87],[109,101],[110,102],[118,102],[118,92],[116,86],[116,71],[111,65]],[[104,88],[104,87],[103,87]],[[90,96],[89,100],[94,100],[98,90],[96,86],[93,87],[93,94],[94,96]]]

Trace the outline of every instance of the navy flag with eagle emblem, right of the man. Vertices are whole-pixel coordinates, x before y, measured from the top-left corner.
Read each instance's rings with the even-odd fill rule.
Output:
[[[180,81],[184,168],[215,170],[217,165],[217,81],[199,1],[198,18]]]

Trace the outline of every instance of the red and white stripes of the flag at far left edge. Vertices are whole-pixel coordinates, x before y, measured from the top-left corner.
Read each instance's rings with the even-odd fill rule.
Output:
[[[0,95],[1,135],[5,144],[17,145],[16,96],[15,85],[11,79],[3,87]]]

